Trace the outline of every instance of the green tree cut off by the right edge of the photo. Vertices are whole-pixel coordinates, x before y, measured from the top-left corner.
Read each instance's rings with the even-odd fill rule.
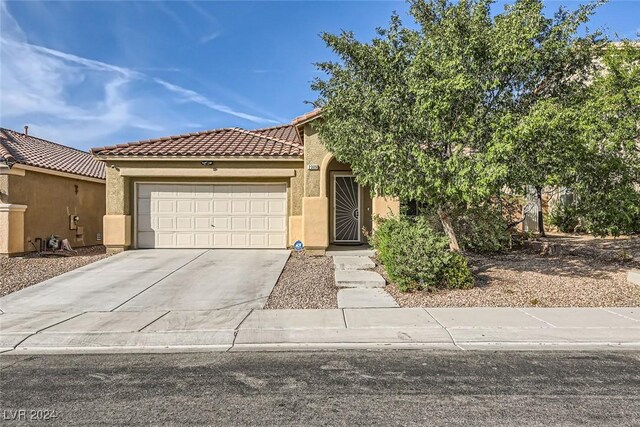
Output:
[[[640,44],[607,46],[577,105],[581,155],[567,186],[587,231],[640,232]]]

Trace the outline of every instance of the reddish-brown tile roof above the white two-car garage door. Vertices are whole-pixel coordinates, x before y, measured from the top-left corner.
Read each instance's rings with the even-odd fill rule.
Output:
[[[292,125],[214,129],[91,149],[100,156],[302,156]]]

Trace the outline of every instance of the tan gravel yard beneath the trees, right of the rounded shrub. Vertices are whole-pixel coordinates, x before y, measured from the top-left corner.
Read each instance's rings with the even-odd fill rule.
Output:
[[[640,306],[640,286],[626,280],[629,269],[640,268],[640,238],[549,240],[560,255],[524,250],[469,255],[473,289],[402,293],[393,284],[385,289],[401,307]],[[382,267],[376,270],[387,278]]]

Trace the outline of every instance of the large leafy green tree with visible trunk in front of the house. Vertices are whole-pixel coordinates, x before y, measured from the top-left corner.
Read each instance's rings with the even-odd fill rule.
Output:
[[[318,64],[328,77],[313,83],[336,158],[374,193],[433,207],[453,250],[453,212],[514,181],[546,185],[575,154],[579,132],[565,125],[576,113],[564,109],[576,105],[603,43],[578,35],[601,2],[551,18],[541,0],[498,14],[493,3],[416,0],[416,25],[394,15],[369,43],[323,34],[339,60]],[[536,165],[544,172],[533,182]]]

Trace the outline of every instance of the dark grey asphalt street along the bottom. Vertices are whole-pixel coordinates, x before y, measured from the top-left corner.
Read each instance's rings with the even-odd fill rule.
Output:
[[[632,351],[4,356],[0,368],[6,425],[640,425]]]

